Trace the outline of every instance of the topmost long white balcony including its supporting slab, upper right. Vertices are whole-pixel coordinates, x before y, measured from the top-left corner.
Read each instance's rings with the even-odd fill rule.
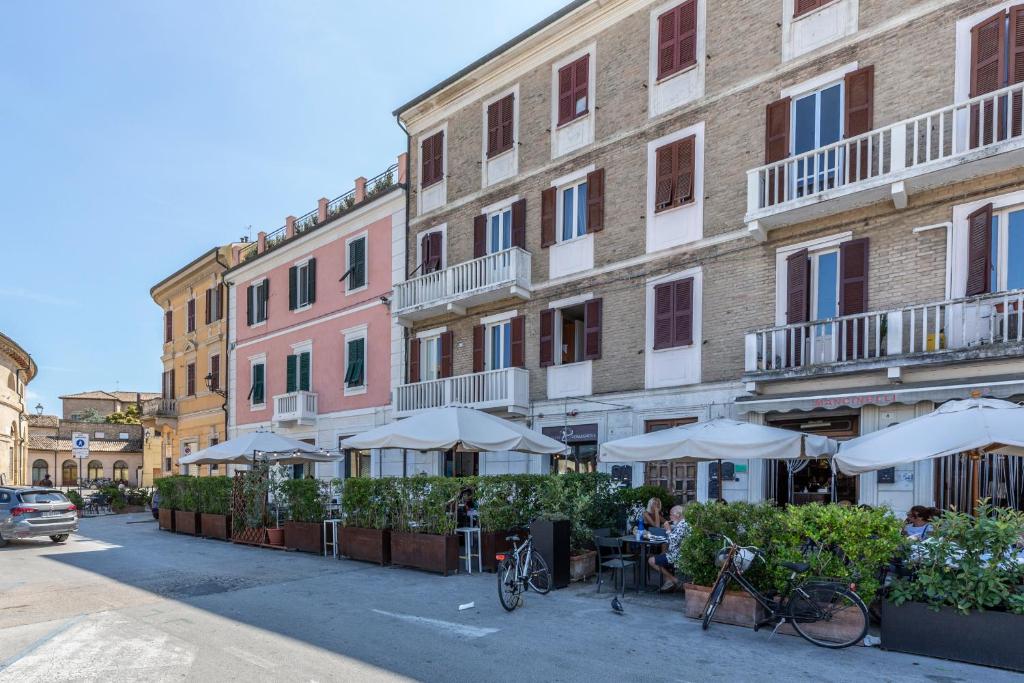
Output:
[[[876,128],[746,174],[752,234],[1024,163],[1024,84]]]

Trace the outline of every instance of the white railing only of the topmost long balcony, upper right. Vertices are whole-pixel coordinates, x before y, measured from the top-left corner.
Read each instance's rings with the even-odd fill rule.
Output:
[[[748,212],[867,181],[896,181],[953,157],[1024,139],[1024,83],[748,171]]]

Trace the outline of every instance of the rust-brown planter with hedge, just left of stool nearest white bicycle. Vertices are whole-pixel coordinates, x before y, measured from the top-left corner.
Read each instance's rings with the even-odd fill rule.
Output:
[[[458,571],[455,501],[466,482],[451,477],[389,481],[395,490],[391,561],[445,577]]]

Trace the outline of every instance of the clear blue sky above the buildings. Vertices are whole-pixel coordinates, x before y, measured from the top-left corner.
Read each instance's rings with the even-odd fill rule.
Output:
[[[0,331],[30,405],[159,390],[154,284],[383,170],[398,104],[565,1],[3,3]]]

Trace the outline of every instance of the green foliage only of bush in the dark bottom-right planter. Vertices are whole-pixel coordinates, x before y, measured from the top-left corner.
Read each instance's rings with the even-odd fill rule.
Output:
[[[961,613],[996,609],[1024,614],[1024,565],[1012,561],[1024,539],[1024,512],[987,501],[976,516],[948,511],[933,520],[927,543],[913,545],[913,580],[893,584],[897,605],[925,602]]]

